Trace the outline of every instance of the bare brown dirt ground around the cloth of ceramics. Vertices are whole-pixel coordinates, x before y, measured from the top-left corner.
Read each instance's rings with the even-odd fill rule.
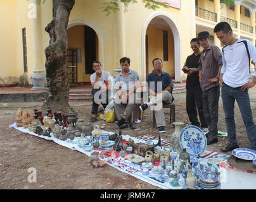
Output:
[[[256,119],[256,88],[250,90],[253,117]],[[189,124],[186,114],[186,93],[175,93],[176,121]],[[38,103],[37,103],[38,104]],[[34,103],[28,106],[22,105],[22,109],[29,109],[32,113]],[[39,103],[40,104],[40,103]],[[72,104],[70,104],[72,105]],[[106,165],[105,167],[93,168],[89,165],[88,157],[79,151],[54,143],[54,141],[37,138],[30,134],[22,133],[16,129],[9,128],[15,121],[16,110],[21,105],[1,104],[0,110],[0,189],[160,189],[144,181],[132,177],[129,174]],[[74,104],[79,117],[88,120],[91,116],[91,106],[86,104]],[[167,110],[167,109],[165,109]],[[238,105],[235,104],[235,121],[238,144],[240,147],[249,148],[249,142],[245,126],[241,119]],[[169,118],[165,117],[167,133],[162,138],[170,140],[174,132]],[[96,124],[102,126],[103,121]],[[219,131],[226,131],[222,100],[219,100]],[[158,137],[156,128],[152,128],[151,111],[144,112],[144,121],[136,124],[136,128],[142,127],[141,131],[124,129],[123,134],[130,136],[141,136],[150,134]],[[118,132],[117,124],[106,124],[106,131]],[[220,151],[227,145],[227,138],[219,138],[219,142],[207,146],[207,150]],[[228,153],[231,155],[231,152]],[[28,169],[34,167],[37,171],[37,182],[28,182]]]

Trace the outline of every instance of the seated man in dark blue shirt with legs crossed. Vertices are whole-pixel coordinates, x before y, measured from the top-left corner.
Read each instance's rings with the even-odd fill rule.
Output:
[[[165,133],[165,116],[163,114],[163,104],[170,104],[174,101],[172,97],[172,78],[169,73],[162,71],[163,63],[162,59],[155,58],[152,61],[154,71],[146,76],[146,82],[148,84],[148,93],[150,93],[150,102],[143,104],[141,111],[148,109],[151,105],[155,110],[155,120],[157,122],[157,128],[159,133]]]

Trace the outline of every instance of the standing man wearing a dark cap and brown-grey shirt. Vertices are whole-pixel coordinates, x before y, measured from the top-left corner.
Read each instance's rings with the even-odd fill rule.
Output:
[[[218,142],[219,74],[222,66],[221,50],[211,45],[208,32],[198,33],[203,48],[199,59],[199,81],[203,96],[203,113],[208,124],[207,145]]]

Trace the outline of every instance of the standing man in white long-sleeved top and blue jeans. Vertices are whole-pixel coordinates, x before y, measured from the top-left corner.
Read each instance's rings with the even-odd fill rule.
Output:
[[[227,138],[229,145],[221,148],[221,151],[227,152],[238,148],[236,141],[236,125],[234,122],[234,102],[238,107],[245,123],[250,148],[256,150],[256,126],[253,122],[252,109],[248,89],[256,84],[256,75],[253,75],[253,81],[250,77],[250,57],[256,62],[256,50],[250,40],[236,39],[233,30],[226,22],[218,23],[214,32],[217,38],[226,45],[222,49],[223,66],[221,68],[220,83],[223,109],[227,127]]]

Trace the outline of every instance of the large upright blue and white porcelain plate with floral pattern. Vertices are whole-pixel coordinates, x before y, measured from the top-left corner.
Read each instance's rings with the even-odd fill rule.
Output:
[[[179,136],[179,145],[181,149],[186,148],[191,157],[198,157],[205,152],[207,147],[207,138],[202,129],[196,126],[186,126],[182,129]]]

